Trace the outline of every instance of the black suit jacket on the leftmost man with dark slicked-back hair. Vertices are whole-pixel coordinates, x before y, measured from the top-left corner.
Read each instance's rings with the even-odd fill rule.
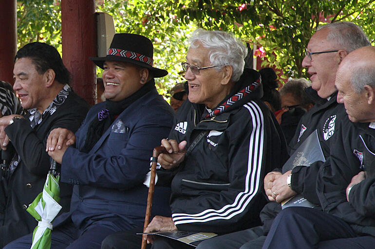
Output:
[[[5,128],[20,161],[10,178],[1,181],[7,197],[4,224],[0,226],[0,248],[33,232],[38,225],[35,218],[26,212],[26,208],[42,192],[50,168],[50,156],[46,152],[49,133],[58,127],[76,131],[89,108],[85,100],[72,92],[53,115],[43,117],[34,129],[30,126],[29,114],[25,119],[16,120]],[[72,187],[63,183],[60,188],[61,212],[68,211]]]

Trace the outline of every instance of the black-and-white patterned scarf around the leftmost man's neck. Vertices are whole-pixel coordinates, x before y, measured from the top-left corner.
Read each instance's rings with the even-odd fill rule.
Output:
[[[31,127],[34,128],[38,124],[40,124],[43,121],[43,117],[47,115],[53,115],[56,112],[57,108],[65,102],[71,92],[72,88],[68,84],[66,84],[42,114],[39,113],[37,108],[28,110],[28,112],[30,113],[29,119]]]

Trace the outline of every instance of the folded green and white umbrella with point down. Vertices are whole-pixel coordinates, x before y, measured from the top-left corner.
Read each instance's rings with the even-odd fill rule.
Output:
[[[56,166],[53,161],[52,165]],[[60,204],[60,180],[59,174],[51,167],[44,184],[43,192],[29,205],[27,212],[38,220],[38,226],[33,232],[33,243],[30,249],[50,249],[52,221],[61,210]],[[52,171],[52,172],[51,172]],[[54,173],[56,176],[54,176]]]

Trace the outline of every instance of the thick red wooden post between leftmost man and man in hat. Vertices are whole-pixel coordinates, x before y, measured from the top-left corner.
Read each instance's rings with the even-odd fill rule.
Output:
[[[76,94],[94,104],[96,66],[89,60],[96,56],[94,0],[61,0],[62,60],[72,73]]]

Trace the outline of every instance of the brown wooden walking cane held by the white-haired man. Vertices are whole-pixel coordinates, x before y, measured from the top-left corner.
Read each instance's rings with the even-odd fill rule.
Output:
[[[149,187],[149,195],[147,196],[146,216],[145,216],[145,224],[143,226],[143,232],[145,232],[147,226],[150,223],[152,197],[153,197],[153,191],[155,187],[156,163],[157,163],[157,158],[159,154],[161,153],[168,153],[168,151],[163,146],[158,146],[155,149],[153,149],[153,152],[152,152],[150,187]],[[147,235],[143,234],[141,249],[145,249],[146,244],[147,244]]]

